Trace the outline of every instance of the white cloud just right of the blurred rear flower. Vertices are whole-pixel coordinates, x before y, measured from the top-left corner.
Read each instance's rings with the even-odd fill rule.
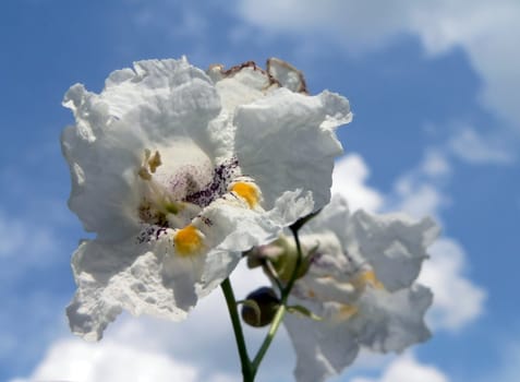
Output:
[[[460,330],[484,311],[486,293],[464,276],[463,249],[452,239],[438,239],[430,249],[419,282],[434,293],[428,321],[434,327]]]

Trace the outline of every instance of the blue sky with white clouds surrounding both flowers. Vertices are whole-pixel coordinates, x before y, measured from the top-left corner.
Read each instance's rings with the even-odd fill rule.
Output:
[[[77,365],[74,355],[90,362],[82,367],[98,381],[122,380],[129,359],[138,359],[141,370],[162,368],[157,375],[181,370],[186,381],[237,380],[227,319],[201,334],[208,312],[223,305],[220,296],[178,327],[124,317],[98,345],[74,338],[63,313],[74,293],[70,255],[86,234],[66,208],[59,136],[73,120],[62,96],[76,82],[99,92],[111,71],[135,60],[182,55],[201,68],[278,57],[305,73],[311,93],[346,95],[354,120],[339,132],[348,156],[335,179],[348,182],[338,190],[359,206],[431,214],[443,226],[424,275],[439,296],[430,318],[433,339],[403,358],[363,357],[336,381],[395,382],[411,369],[426,382],[515,381],[517,1],[8,0],[1,7],[1,381],[62,380],[56,370]],[[261,380],[290,381],[292,350],[283,335],[276,345]],[[94,360],[95,351],[108,366]],[[112,374],[104,374],[107,368]]]

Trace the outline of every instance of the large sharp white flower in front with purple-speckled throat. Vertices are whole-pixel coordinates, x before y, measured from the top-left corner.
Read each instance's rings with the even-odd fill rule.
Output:
[[[268,67],[140,61],[100,94],[69,89],[69,205],[96,232],[72,260],[74,333],[99,339],[123,309],[183,319],[241,251],[328,202],[349,103],[304,94],[280,60]]]

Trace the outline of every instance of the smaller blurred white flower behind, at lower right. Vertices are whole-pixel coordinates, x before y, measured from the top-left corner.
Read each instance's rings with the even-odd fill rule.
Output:
[[[323,381],[341,372],[361,347],[401,351],[430,337],[423,317],[432,294],[414,280],[437,235],[430,218],[412,222],[361,210],[350,215],[338,195],[302,228],[311,265],[294,284],[290,305],[322,320],[288,314],[283,321],[298,356],[298,381]],[[287,273],[293,261],[283,264],[282,256],[295,253],[294,241],[282,237],[254,254],[269,256]]]

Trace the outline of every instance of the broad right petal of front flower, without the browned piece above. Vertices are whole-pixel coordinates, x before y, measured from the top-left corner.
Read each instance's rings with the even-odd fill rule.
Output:
[[[348,100],[328,92],[312,97],[279,88],[237,109],[237,157],[266,210],[286,190],[312,191],[316,210],[329,201],[329,169],[341,153],[332,128],[350,119]]]

